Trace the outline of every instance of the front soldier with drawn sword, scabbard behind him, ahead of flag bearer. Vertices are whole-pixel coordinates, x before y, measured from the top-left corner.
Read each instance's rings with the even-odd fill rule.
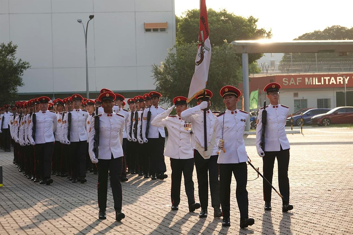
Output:
[[[220,198],[223,211],[222,226],[230,226],[231,182],[232,174],[237,181],[237,202],[240,211],[240,228],[254,224],[249,218],[247,197],[247,153],[243,139],[245,123],[249,114],[237,109],[241,92],[233,86],[225,86],[220,90],[223,102],[227,107],[225,112],[217,115],[216,145],[220,149],[217,163],[220,172]]]

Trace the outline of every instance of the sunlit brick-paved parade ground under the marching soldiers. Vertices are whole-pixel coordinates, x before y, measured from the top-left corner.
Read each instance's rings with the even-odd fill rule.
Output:
[[[261,170],[255,136],[245,138],[246,150]],[[179,211],[170,211],[170,178],[151,181],[128,175],[122,183],[126,218],[115,222],[113,198],[108,189],[107,219],[97,219],[97,175],[88,182],[72,184],[53,177],[50,186],[25,179],[12,164],[13,153],[0,151],[4,187],[0,188],[0,235],[2,234],[353,234],[353,129],[305,128],[304,134],[288,135],[291,143],[289,182],[294,209],[282,213],[280,197],[273,192],[271,212],[263,210],[262,180],[249,181],[249,215],[255,224],[239,228],[239,211],[232,181],[231,223],[198,217],[189,212],[184,186]],[[168,174],[169,160],[166,158]],[[275,166],[274,186],[278,188]],[[249,166],[248,178],[256,178]],[[195,197],[198,201],[196,170]],[[182,183],[183,184],[183,183]],[[222,193],[222,192],[221,192]],[[209,197],[210,201],[210,197]],[[210,203],[210,202],[209,202]]]

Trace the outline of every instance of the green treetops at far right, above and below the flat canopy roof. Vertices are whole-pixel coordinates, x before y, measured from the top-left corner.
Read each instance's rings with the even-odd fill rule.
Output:
[[[295,38],[294,40],[352,40],[353,39],[353,27],[348,29],[347,27],[342,27],[340,25],[333,25],[327,27],[324,30],[315,30],[310,33],[304,33],[303,35]],[[290,60],[289,53],[285,53],[282,57],[283,60]],[[339,56],[337,53],[317,53],[317,59],[322,58],[352,58],[353,53],[348,52],[347,56]],[[301,59],[315,59],[315,53],[293,53],[292,55],[294,60]]]

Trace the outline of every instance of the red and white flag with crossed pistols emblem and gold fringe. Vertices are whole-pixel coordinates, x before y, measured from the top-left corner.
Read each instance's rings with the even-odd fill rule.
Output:
[[[208,31],[206,0],[200,0],[200,26],[197,43],[195,73],[191,79],[187,103],[189,103],[195,95],[202,94],[207,84],[208,69],[211,60],[211,43]]]

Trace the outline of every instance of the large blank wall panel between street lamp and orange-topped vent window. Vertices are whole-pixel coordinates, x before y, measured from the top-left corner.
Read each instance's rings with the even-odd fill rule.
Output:
[[[96,66],[135,66],[134,13],[97,13],[94,20]]]

